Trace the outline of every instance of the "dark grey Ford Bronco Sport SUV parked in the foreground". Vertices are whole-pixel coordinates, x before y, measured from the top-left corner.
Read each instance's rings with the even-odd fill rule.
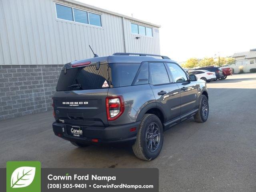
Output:
[[[209,113],[205,81],[166,56],[134,53],[65,64],[53,107],[57,136],[79,147],[131,142],[143,160],[158,156],[165,130]]]

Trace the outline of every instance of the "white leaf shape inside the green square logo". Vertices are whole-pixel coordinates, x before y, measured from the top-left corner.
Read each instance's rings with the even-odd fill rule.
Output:
[[[29,186],[35,177],[35,167],[19,167],[12,173],[11,188],[22,188]]]

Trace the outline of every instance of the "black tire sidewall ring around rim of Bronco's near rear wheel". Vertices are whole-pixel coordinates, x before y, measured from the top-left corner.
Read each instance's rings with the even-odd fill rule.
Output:
[[[160,129],[160,143],[159,143],[158,149],[154,152],[149,151],[147,146],[146,146],[146,131],[147,131],[148,126],[152,122],[155,122],[158,125],[159,129]],[[164,133],[163,133],[162,123],[161,123],[160,119],[157,116],[150,115],[150,116],[148,116],[148,118],[146,119],[146,121],[144,122],[144,124],[141,128],[142,128],[142,132],[141,132],[140,142],[141,142],[141,146],[142,146],[144,156],[148,160],[153,160],[154,158],[156,158],[160,154],[162,146],[163,146]]]

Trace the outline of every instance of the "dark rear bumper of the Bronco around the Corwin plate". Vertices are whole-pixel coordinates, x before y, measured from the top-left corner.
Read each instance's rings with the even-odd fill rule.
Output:
[[[84,137],[76,137],[67,133],[67,124],[54,122],[52,124],[53,132],[56,136],[65,140],[81,142],[81,143],[94,143],[92,139],[97,139],[97,143],[114,143],[114,142],[127,142],[134,141],[137,137],[137,132],[140,122],[125,124],[120,126],[108,127],[93,127],[93,126],[80,126],[83,128]],[[72,125],[69,125],[72,126]],[[130,128],[136,127],[136,130],[130,132]]]

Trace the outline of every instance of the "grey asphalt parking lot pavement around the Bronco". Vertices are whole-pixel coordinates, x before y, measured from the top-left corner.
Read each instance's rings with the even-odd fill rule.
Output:
[[[52,112],[0,122],[0,167],[9,160],[39,160],[47,168],[158,168],[160,191],[256,191],[256,73],[207,84],[210,115],[164,134],[151,162],[130,148],[76,148],[54,136]]]

